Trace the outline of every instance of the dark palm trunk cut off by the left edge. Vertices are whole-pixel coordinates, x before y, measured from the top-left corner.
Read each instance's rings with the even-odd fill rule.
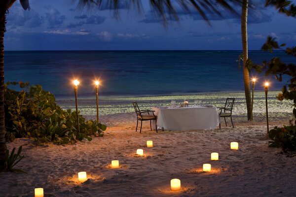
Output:
[[[0,15],[0,172],[6,168],[6,144],[4,121],[4,32],[6,15]]]

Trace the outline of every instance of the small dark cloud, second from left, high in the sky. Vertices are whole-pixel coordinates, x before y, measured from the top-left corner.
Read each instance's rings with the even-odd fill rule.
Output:
[[[48,12],[45,13],[48,28],[52,29],[60,27],[66,19],[65,15],[61,15],[61,13],[53,6],[47,5],[45,8],[48,10]]]

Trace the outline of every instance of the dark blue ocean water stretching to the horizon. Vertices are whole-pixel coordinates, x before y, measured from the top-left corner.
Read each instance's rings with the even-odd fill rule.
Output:
[[[5,51],[5,81],[40,84],[57,99],[73,99],[73,79],[78,79],[79,99],[93,98],[99,79],[101,98],[194,95],[243,91],[241,51]],[[278,56],[286,63],[295,58],[282,51],[250,51],[254,63]],[[270,90],[283,83],[273,76],[252,72],[256,90],[266,78]],[[13,87],[11,87],[13,88]]]

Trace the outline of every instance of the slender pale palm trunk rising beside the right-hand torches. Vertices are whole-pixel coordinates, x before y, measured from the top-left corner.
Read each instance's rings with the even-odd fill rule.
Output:
[[[252,113],[252,102],[251,102],[251,88],[250,88],[250,73],[247,68],[248,61],[248,2],[249,0],[243,0],[242,4],[242,16],[241,16],[241,33],[242,33],[242,44],[243,44],[243,74],[244,74],[244,85],[245,85],[245,95],[247,103],[247,114],[248,120],[251,120]]]

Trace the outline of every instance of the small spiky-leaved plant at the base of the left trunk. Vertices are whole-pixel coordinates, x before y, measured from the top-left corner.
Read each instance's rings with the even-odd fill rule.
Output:
[[[20,146],[17,153],[14,154],[15,152],[15,148],[12,149],[10,155],[9,155],[9,150],[6,149],[6,164],[7,164],[7,171],[9,172],[21,172],[21,173],[26,173],[21,169],[16,169],[13,168],[14,165],[16,165],[17,163],[19,163],[24,156],[21,156],[21,152],[22,152],[23,147]]]

